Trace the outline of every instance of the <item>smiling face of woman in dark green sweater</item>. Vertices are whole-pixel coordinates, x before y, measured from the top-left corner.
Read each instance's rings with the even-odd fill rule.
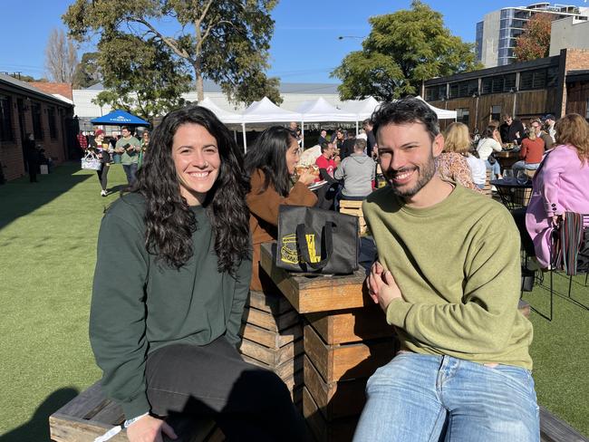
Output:
[[[180,194],[188,206],[200,206],[221,167],[217,139],[199,124],[182,124],[172,141],[172,159],[180,181]]]

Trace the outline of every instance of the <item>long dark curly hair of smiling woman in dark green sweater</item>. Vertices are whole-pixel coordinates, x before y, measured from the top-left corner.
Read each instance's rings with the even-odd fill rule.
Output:
[[[150,151],[137,173],[131,192],[146,200],[145,245],[149,253],[180,268],[192,256],[192,234],[197,229],[194,213],[180,195],[180,180],[172,159],[174,135],[183,124],[198,124],[217,139],[221,159],[217,180],[203,202],[215,237],[219,272],[235,274],[238,264],[250,255],[249,183],[243,155],[229,130],[215,114],[200,106],[171,111],[153,130]]]

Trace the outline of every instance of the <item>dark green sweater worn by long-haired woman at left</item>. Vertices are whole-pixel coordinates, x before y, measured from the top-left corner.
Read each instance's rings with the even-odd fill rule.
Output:
[[[150,410],[145,383],[150,351],[178,343],[205,345],[221,335],[239,341],[251,260],[240,264],[235,278],[220,274],[207,211],[191,209],[198,223],[194,255],[179,270],[146,251],[143,197],[121,197],[102,218],[90,339],[103,370],[102,387],[127,418]]]

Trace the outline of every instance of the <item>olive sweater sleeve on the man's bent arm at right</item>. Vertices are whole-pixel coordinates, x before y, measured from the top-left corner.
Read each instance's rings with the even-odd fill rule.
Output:
[[[519,314],[520,288],[519,235],[506,216],[470,245],[462,303],[396,299],[387,308],[387,322],[442,350],[482,354],[503,349]]]

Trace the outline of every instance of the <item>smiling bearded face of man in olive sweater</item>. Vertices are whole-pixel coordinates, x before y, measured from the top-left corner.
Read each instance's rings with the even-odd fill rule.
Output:
[[[414,197],[430,182],[436,173],[434,158],[444,149],[443,137],[432,142],[420,122],[382,126],[377,142],[382,173],[403,198]]]

